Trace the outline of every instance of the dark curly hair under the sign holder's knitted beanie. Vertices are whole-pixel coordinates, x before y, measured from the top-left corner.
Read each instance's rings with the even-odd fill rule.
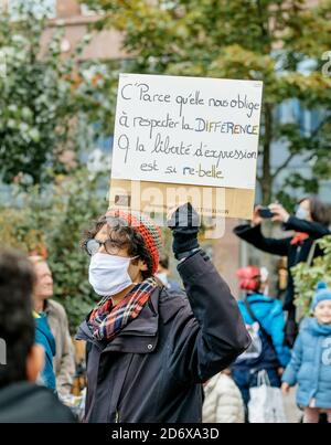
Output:
[[[111,222],[114,222],[114,219],[111,219]],[[142,278],[146,279],[152,276],[152,257],[145,244],[143,237],[134,226],[129,225],[120,218],[118,219],[117,225],[111,224],[110,226],[108,223],[108,216],[100,216],[94,222],[94,225],[89,230],[85,231],[81,246],[86,248],[87,241],[94,239],[104,225],[107,225],[108,236],[115,248],[126,248],[130,256],[138,256],[138,258],[132,261],[134,264],[137,264],[139,259],[146,263],[147,271],[141,271]]]

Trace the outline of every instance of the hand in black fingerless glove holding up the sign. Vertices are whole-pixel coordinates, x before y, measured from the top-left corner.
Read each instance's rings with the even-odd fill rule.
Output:
[[[173,242],[172,250],[175,258],[180,258],[180,254],[199,248],[197,232],[200,218],[191,203],[186,203],[177,209],[172,214],[168,226],[172,230]]]

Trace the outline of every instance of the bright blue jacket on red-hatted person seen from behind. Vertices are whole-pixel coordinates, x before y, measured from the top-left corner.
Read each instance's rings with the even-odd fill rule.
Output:
[[[285,337],[285,318],[281,303],[263,294],[252,294],[248,295],[247,298],[255,317],[271,337],[280,364],[286,367],[290,361],[290,350],[282,345]],[[246,309],[245,303],[238,301],[238,306],[245,324],[254,324],[254,320]]]

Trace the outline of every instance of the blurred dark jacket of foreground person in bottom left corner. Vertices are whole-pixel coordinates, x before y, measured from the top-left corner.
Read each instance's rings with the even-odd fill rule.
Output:
[[[72,411],[44,386],[20,382],[0,390],[0,423],[73,423]]]

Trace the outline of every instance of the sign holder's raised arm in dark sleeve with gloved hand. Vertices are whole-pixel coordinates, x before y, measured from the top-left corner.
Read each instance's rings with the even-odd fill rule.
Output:
[[[184,329],[178,327],[173,370],[181,381],[202,382],[227,368],[249,346],[250,337],[228,286],[199,246],[199,215],[191,204],[179,208],[169,226],[194,315],[188,312]]]

